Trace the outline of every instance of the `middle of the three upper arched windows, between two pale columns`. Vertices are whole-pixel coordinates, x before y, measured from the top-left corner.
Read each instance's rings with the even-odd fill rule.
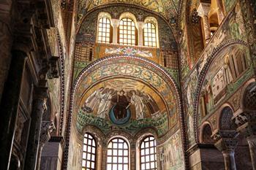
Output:
[[[136,45],[135,22],[130,18],[123,18],[119,22],[119,44]]]

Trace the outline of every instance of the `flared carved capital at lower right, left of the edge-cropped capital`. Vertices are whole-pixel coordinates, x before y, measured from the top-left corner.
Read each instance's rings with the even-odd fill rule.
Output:
[[[238,144],[236,137],[238,133],[234,130],[219,130],[211,137],[216,141],[215,147],[221,152],[233,152]]]

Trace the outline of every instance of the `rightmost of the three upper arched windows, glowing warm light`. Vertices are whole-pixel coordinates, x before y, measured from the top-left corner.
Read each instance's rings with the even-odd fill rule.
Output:
[[[143,40],[145,46],[157,47],[157,31],[153,23],[145,23],[143,28]]]

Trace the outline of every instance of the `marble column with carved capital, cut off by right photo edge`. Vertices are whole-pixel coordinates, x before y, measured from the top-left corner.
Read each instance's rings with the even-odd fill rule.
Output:
[[[256,170],[256,111],[244,111],[234,114],[237,131],[246,137],[252,161],[252,168]]]

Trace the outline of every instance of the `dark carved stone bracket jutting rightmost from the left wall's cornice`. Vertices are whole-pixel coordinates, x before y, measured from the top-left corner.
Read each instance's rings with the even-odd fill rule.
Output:
[[[53,78],[59,78],[59,57],[57,56],[52,56],[50,60],[48,61],[48,78],[53,79]]]

